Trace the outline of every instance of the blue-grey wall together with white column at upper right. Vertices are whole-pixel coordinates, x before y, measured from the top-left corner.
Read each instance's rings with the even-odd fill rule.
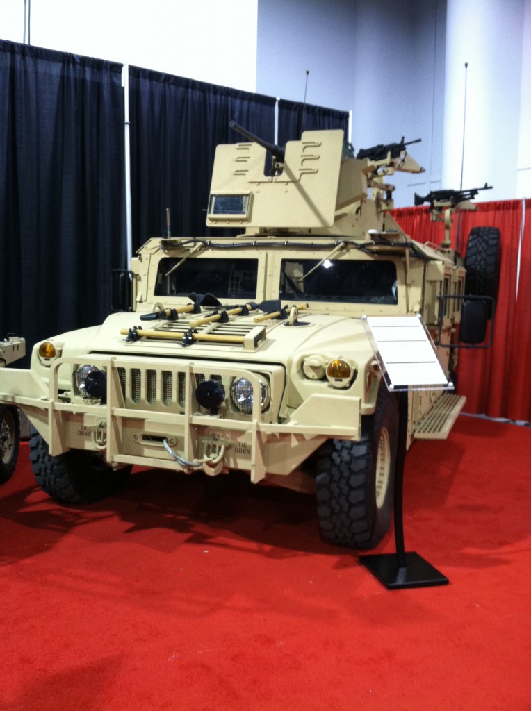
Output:
[[[426,169],[394,176],[395,204],[463,187],[531,196],[531,0],[259,0],[259,92],[352,109],[352,143],[421,137]],[[313,77],[313,79],[312,79]],[[275,87],[278,89],[275,90]]]

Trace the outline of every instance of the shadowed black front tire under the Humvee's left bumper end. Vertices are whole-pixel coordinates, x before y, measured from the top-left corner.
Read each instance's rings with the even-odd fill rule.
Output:
[[[51,456],[35,429],[29,440],[31,469],[38,486],[61,503],[93,503],[113,493],[131,467],[114,470],[93,451],[69,449]]]

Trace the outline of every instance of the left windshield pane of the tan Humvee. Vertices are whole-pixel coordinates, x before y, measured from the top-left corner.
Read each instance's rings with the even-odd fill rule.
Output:
[[[177,266],[180,261],[160,261],[155,296],[209,292],[218,299],[256,299],[258,260],[191,257]]]

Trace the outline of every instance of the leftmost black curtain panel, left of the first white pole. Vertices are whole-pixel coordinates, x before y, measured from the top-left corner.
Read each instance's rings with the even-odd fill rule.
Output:
[[[0,41],[0,337],[28,351],[110,311],[125,264],[121,75]]]

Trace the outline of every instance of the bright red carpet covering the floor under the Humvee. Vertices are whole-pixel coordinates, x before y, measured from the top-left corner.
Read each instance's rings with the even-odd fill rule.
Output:
[[[531,429],[460,417],[406,457],[389,592],[311,496],[138,471],[63,508],[21,448],[0,487],[2,711],[529,711]],[[394,550],[390,535],[377,552]]]

